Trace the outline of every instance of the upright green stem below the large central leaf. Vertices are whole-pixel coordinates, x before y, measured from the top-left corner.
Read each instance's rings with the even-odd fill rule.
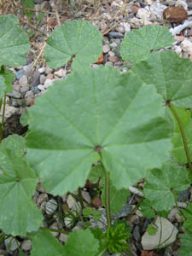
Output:
[[[105,202],[106,202],[106,216],[108,222],[108,228],[111,226],[111,207],[110,207],[110,196],[109,196],[109,172],[105,170]]]

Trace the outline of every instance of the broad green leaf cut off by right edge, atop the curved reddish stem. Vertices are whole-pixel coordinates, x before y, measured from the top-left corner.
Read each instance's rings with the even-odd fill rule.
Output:
[[[133,72],[147,84],[154,84],[165,102],[192,108],[192,61],[171,50],[151,54],[147,61],[134,65]]]

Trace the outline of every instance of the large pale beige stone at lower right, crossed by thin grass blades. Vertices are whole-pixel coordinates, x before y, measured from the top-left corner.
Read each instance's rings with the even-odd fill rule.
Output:
[[[154,250],[156,248],[166,247],[176,240],[177,228],[166,218],[157,217],[154,225],[157,232],[150,236],[146,231],[142,237],[142,246],[144,250]]]

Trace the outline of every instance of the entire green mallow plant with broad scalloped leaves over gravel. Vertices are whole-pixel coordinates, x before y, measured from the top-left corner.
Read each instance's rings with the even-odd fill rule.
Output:
[[[18,24],[13,15],[0,17],[2,97],[8,90],[5,65],[21,65],[29,48]],[[121,74],[113,67],[90,68],[101,55],[102,34],[89,22],[66,22],[49,36],[47,65],[70,61],[72,72],[21,117],[28,125],[26,137],[9,136],[0,145],[0,229],[32,239],[32,256],[131,255],[128,227],[112,219],[129,186],[145,178],[140,205],[145,218],[169,212],[177,206],[178,191],[189,188],[192,63],[167,49],[173,42],[163,26],[127,33],[120,54],[132,68]],[[61,245],[41,227],[44,216],[32,201],[39,178],[54,196],[84,187],[87,178],[100,178],[106,232],[76,230]],[[180,255],[192,255],[192,206],[179,211],[185,219]]]

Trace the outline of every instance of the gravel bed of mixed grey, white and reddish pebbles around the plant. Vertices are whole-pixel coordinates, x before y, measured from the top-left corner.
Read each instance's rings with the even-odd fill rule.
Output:
[[[58,1],[56,8],[60,10],[61,22],[66,20],[90,20],[92,24],[97,26],[103,33],[103,61],[101,64],[92,64],[91,67],[96,68],[99,65],[113,66],[119,68],[121,73],[125,73],[131,68],[131,63],[125,62],[119,55],[119,45],[122,39],[125,37],[125,33],[130,32],[132,29],[137,29],[142,26],[150,24],[162,25],[162,14],[167,6],[181,6],[188,11],[188,23],[185,23],[185,29],[182,32],[179,31],[178,24],[171,24],[166,22],[164,26],[168,26],[172,29],[175,35],[176,42],[172,45],[172,50],[177,52],[178,55],[190,58],[192,60],[192,3],[191,1],[183,0],[166,0],[166,1],[153,1],[153,0],[137,0],[131,3],[128,1],[97,1],[96,8],[91,6],[91,1],[79,1],[81,5],[77,5],[77,9],[73,9],[71,6],[62,6],[62,1]],[[98,2],[102,2],[99,3]],[[48,12],[52,12],[46,20],[42,20],[39,26],[39,30],[44,34],[49,34],[55,27],[55,5],[53,1],[34,1],[35,8],[46,9]],[[64,2],[63,2],[64,3]],[[37,15],[37,14],[35,14]],[[52,19],[52,23],[50,22]],[[29,29],[27,24],[23,24],[26,30]],[[43,45],[44,36],[40,33],[36,33],[34,37],[34,44],[40,46]],[[34,61],[38,56],[38,50],[36,47],[32,47],[33,51],[27,55],[27,62],[24,67],[15,68],[16,79],[14,81],[14,91],[9,93],[6,99],[6,119],[10,123],[11,118],[16,115],[17,119],[26,108],[34,103],[34,99],[37,96],[41,96],[44,91],[55,80],[66,79],[67,74],[71,72],[70,67],[64,66],[55,70],[44,65],[44,59],[41,58],[40,62],[35,67],[32,67]],[[14,123],[14,122],[12,122]],[[14,125],[13,125],[14,126]],[[15,126],[14,126],[15,127]],[[23,127],[20,128],[21,130]],[[9,129],[7,136],[14,133],[13,130]],[[25,130],[26,131],[26,130]],[[18,131],[18,133],[24,133],[24,130]],[[141,200],[141,192],[137,189],[131,190],[132,194],[127,198],[127,203],[124,207],[115,215],[114,218],[125,218],[127,224],[131,226],[132,237],[130,239],[131,253],[133,255],[140,255],[143,247],[141,240],[148,224],[152,221],[151,219],[143,218],[142,212],[137,210],[129,218],[129,214],[134,207],[137,207],[138,201]],[[139,194],[140,193],[140,194]],[[77,195],[77,191],[74,192]],[[102,201],[97,198],[95,199],[94,192],[92,189],[84,188],[82,190],[82,196],[84,199],[84,205],[92,203],[92,207],[95,207],[97,211],[102,213],[102,223],[96,222],[90,219],[90,224],[93,227],[100,227],[102,230],[106,229],[105,224],[107,223],[105,217],[105,209],[102,207]],[[63,195],[62,197],[53,197],[48,195],[41,185],[38,185],[37,191],[33,196],[33,200],[38,205],[40,210],[44,212],[44,227],[49,227],[54,230],[66,229],[66,230],[79,230],[82,229],[82,222],[80,219],[70,218],[68,210],[72,212],[80,211],[80,202],[73,197],[73,195]],[[178,198],[179,207],[187,207],[189,202],[192,201],[191,190],[185,190],[180,193]],[[65,218],[61,218],[61,212],[65,212]],[[74,214],[75,215],[75,214]],[[77,220],[78,219],[78,220]],[[178,214],[177,208],[173,207],[171,213],[168,216],[169,223],[174,224],[178,228],[179,224],[183,221],[181,216]],[[167,225],[167,223],[166,223]],[[182,230],[181,230],[182,232]],[[65,243],[67,241],[66,234],[59,234],[52,232],[53,236],[57,237],[59,241]],[[178,235],[178,237],[180,234]],[[0,243],[0,256],[5,255],[19,255],[18,246],[23,250],[25,255],[30,255],[32,248],[32,242],[28,239],[18,239],[18,243],[15,242],[11,237],[7,238],[4,243]],[[174,255],[178,254],[178,247],[180,241],[174,244],[174,247],[166,247],[159,255]],[[106,256],[109,255],[106,253]],[[119,255],[119,254],[114,254]],[[113,256],[114,256],[113,255]],[[152,254],[155,255],[155,254]],[[156,254],[157,255],[157,254]]]

